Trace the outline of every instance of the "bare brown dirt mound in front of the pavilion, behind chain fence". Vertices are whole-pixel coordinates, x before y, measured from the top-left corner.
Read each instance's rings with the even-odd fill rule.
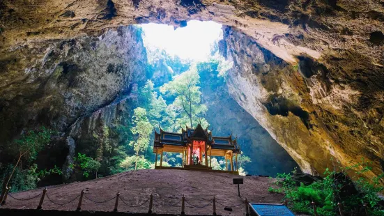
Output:
[[[238,196],[237,185],[233,185],[233,178],[244,178],[240,185]],[[243,199],[258,203],[280,203],[282,194],[268,193],[268,187],[273,179],[257,176],[235,176],[227,173],[211,173],[187,170],[139,170],[118,173],[114,176],[98,178],[86,182],[76,182],[47,187],[47,195],[43,209],[75,210],[79,198],[75,199],[84,189],[86,197],[83,199],[82,210],[112,211],[116,193],[120,192],[119,212],[148,212],[148,198],[153,194],[153,213],[181,213],[181,197],[185,196],[186,214],[212,214],[213,196],[216,198],[218,215],[245,215]],[[17,199],[29,199],[37,196],[43,188],[11,194]],[[54,203],[52,203],[52,200]],[[93,203],[93,201],[106,201]],[[110,201],[107,201],[109,200]],[[0,208],[36,208],[40,196],[29,201],[15,200],[8,196],[5,206]],[[71,203],[68,203],[69,201]],[[139,204],[147,201],[140,207]],[[56,204],[55,204],[56,203]],[[60,204],[68,203],[61,206]],[[175,206],[174,203],[178,203]],[[210,205],[208,205],[210,203]],[[195,207],[192,207],[192,206]],[[208,206],[206,206],[208,205]],[[203,207],[204,208],[198,208]],[[224,210],[224,206],[232,207],[232,212]]]

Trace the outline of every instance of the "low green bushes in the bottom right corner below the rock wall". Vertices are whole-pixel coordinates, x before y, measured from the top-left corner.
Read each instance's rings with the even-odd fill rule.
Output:
[[[292,180],[291,173],[278,173],[276,184],[279,187],[268,188],[268,192],[284,192],[284,199],[288,199],[291,203],[291,209],[296,213],[313,214],[312,206],[310,203],[314,201],[317,206],[317,212],[319,215],[333,216],[337,212],[337,203],[341,202],[344,206],[344,212],[348,215],[350,213],[357,213],[363,203],[369,204],[370,215],[381,215],[383,209],[378,205],[380,198],[378,193],[383,192],[384,187],[380,184],[380,179],[383,178],[383,174],[377,176],[373,181],[369,181],[366,178],[360,177],[353,183],[358,190],[358,194],[354,194],[348,197],[344,197],[342,200],[339,196],[341,190],[345,185],[340,183],[335,176],[343,173],[345,176],[348,171],[356,170],[355,174],[360,174],[370,171],[369,163],[364,162],[355,164],[351,167],[339,167],[339,170],[330,171],[325,169],[323,180],[318,180],[311,185],[296,186]]]

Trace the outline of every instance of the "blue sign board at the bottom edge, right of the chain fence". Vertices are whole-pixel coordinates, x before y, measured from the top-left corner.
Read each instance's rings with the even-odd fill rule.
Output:
[[[252,210],[259,216],[295,216],[283,204],[250,203]]]

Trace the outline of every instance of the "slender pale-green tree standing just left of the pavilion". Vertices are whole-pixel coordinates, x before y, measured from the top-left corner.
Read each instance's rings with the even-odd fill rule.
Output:
[[[139,153],[147,150],[153,126],[148,121],[146,109],[141,107],[137,107],[134,110],[132,122],[135,126],[131,128],[131,132],[135,135],[135,141],[130,141],[130,146],[133,146],[136,152],[135,170],[137,170],[137,160],[139,159]]]

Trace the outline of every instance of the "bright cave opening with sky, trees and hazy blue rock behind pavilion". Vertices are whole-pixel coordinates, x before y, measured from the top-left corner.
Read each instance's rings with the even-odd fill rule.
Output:
[[[215,22],[192,20],[175,28],[165,24],[141,24],[143,43],[148,58],[147,82],[138,85],[138,91],[151,88],[165,111],[160,111],[158,125],[167,132],[181,132],[181,128],[194,128],[201,123],[217,136],[233,136],[241,146],[242,173],[275,176],[290,171],[297,164],[277,144],[275,139],[259,125],[229,93],[226,86],[228,72],[233,66],[220,52],[223,26]],[[186,86],[192,86],[192,119],[188,116],[183,95]],[[138,97],[139,101],[144,101]],[[161,102],[160,102],[161,101]],[[148,110],[148,112],[153,112]],[[149,113],[149,116],[152,114]],[[164,115],[164,116],[162,116]],[[176,116],[171,121],[169,116]],[[183,156],[167,153],[162,167],[183,167]],[[212,157],[212,168],[226,167],[222,157]],[[283,162],[284,161],[284,162]],[[160,164],[158,161],[157,164]]]

